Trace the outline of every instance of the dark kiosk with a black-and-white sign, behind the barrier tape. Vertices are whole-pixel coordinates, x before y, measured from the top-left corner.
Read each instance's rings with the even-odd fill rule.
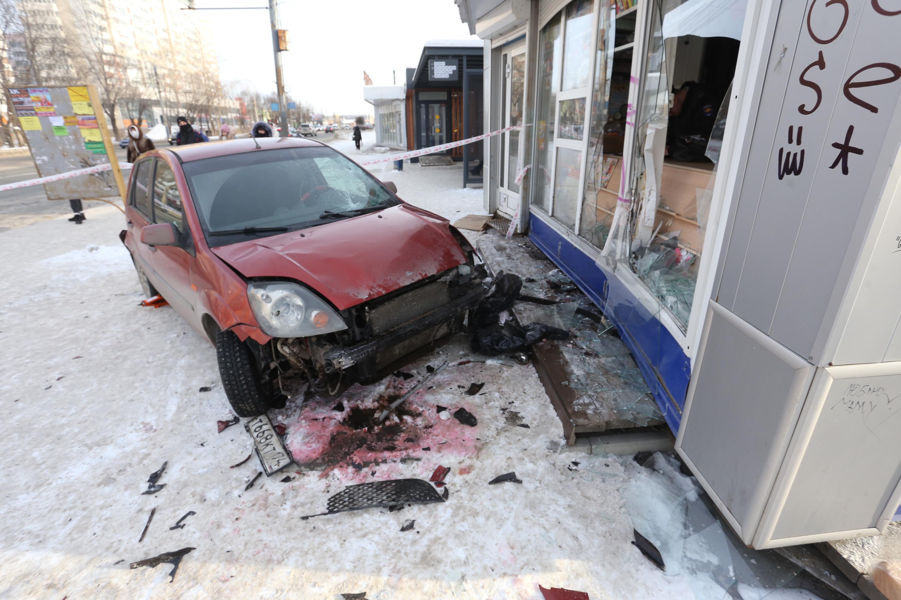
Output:
[[[419,65],[406,69],[408,150],[441,146],[483,132],[482,57],[482,41],[426,43]],[[482,147],[482,141],[477,141],[435,154],[462,161],[467,186],[482,182]]]

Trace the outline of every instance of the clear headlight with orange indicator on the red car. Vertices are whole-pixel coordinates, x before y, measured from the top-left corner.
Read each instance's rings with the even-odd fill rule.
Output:
[[[319,296],[288,281],[250,284],[247,297],[259,328],[274,338],[298,338],[347,329],[341,315]]]

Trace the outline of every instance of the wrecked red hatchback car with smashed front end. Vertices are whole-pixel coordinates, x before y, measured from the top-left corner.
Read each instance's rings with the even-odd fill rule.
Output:
[[[340,395],[462,328],[485,295],[466,239],[316,141],[154,150],[132,168],[121,234],[144,293],[216,348],[236,414],[284,401],[292,369]]]

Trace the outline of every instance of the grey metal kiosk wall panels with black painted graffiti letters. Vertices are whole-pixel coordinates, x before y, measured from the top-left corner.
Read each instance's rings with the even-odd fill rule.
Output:
[[[901,26],[761,3],[748,128],[677,450],[742,541],[882,532],[901,502]]]

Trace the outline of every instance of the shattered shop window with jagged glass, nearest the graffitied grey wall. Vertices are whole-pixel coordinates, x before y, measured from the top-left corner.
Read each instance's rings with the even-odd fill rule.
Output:
[[[685,330],[734,73],[724,48],[737,56],[738,42],[665,41],[663,18],[657,1],[634,122],[630,193],[614,214],[604,254],[627,265]],[[717,52],[723,56],[714,64]],[[698,80],[685,80],[689,72]]]

